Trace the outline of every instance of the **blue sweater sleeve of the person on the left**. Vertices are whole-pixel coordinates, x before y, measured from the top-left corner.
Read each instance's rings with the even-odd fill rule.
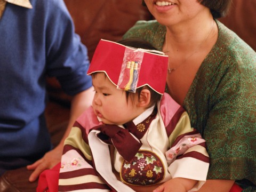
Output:
[[[92,86],[88,76],[89,58],[85,45],[75,34],[65,3],[49,0],[46,17],[47,75],[59,80],[63,91],[74,95]]]

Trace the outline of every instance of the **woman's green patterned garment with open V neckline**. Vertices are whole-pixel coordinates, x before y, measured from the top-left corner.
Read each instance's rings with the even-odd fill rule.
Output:
[[[253,186],[256,185],[256,53],[233,31],[216,22],[217,43],[198,69],[183,107],[191,125],[206,140],[211,158],[207,179],[237,180],[243,187]],[[155,20],[138,21],[123,38],[139,37],[162,50],[165,33],[166,28]]]

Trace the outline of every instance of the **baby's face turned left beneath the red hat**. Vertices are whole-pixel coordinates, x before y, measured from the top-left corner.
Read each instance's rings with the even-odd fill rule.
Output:
[[[110,82],[105,73],[97,73],[92,78],[95,95],[93,98],[93,111],[105,124],[122,125],[137,117],[137,101],[126,100],[123,90],[118,90]]]

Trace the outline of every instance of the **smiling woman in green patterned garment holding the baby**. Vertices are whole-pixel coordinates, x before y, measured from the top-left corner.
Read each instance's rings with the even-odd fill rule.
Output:
[[[256,54],[215,20],[231,1],[145,3],[156,21],[138,22],[124,38],[146,39],[169,55],[166,91],[188,111],[211,158],[199,191],[229,191],[234,181],[255,190]]]

